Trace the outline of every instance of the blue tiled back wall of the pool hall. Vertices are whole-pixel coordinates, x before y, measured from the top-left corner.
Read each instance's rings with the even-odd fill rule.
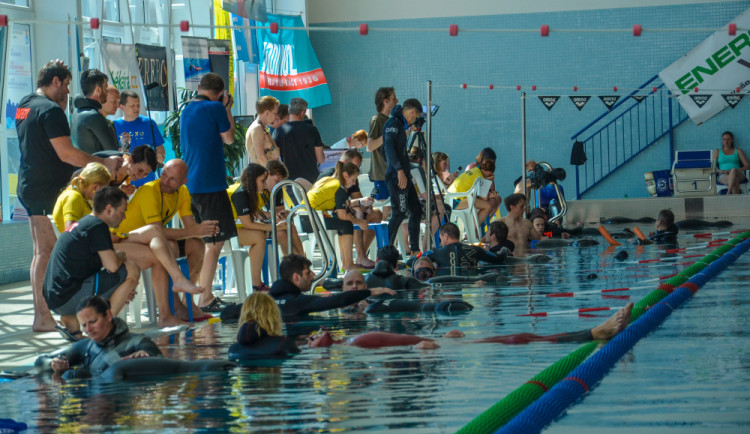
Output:
[[[333,144],[357,129],[367,129],[375,113],[374,94],[380,86],[394,86],[403,101],[416,97],[426,104],[426,81],[434,85],[433,102],[441,106],[433,126],[433,150],[447,152],[451,165],[466,166],[484,146],[499,155],[496,184],[501,195],[510,193],[520,175],[521,103],[515,90],[521,84],[529,93],[526,106],[529,158],[545,160],[568,170],[563,185],[568,196],[575,191],[574,167],[569,165],[570,136],[605,107],[594,96],[578,111],[567,98],[548,111],[537,95],[573,94],[579,88],[602,88],[582,95],[611,94],[612,86],[635,88],[686,54],[713,31],[648,32],[649,28],[718,29],[750,7],[750,2],[727,2],[562,13],[458,17],[449,19],[371,22],[371,29],[440,28],[440,32],[311,32],[310,38],[326,73],[333,104],[314,110],[323,140]],[[394,16],[398,11],[394,11]],[[321,25],[359,23],[327,23]],[[448,26],[459,29],[538,29],[550,25],[549,37],[531,33],[471,33],[448,35]],[[630,30],[618,33],[555,33],[554,29],[632,29],[641,24],[641,37]],[[750,75],[750,74],[749,74]],[[487,85],[461,89],[460,84]],[[489,90],[489,84],[495,89]],[[563,89],[532,92],[538,87]],[[512,89],[499,89],[512,86]],[[687,121],[675,132],[676,149],[713,148],[724,130],[735,132],[740,147],[750,149],[750,98],[734,110],[726,109],[703,126]],[[584,198],[647,196],[643,173],[666,169],[669,143],[657,143],[628,166],[589,192]]]

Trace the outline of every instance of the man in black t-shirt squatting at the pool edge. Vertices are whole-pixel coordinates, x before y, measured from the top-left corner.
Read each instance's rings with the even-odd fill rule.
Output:
[[[135,292],[141,270],[112,246],[110,227],[125,218],[128,196],[104,187],[94,196],[94,215],[87,215],[60,234],[44,278],[44,299],[61,315],[64,333],[80,335],[76,307],[92,295],[109,299],[117,315]]]

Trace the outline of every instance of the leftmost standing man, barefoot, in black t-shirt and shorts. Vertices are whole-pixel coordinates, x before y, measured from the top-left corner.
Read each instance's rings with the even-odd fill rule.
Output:
[[[36,332],[55,330],[55,320],[42,297],[44,273],[56,238],[47,214],[52,213],[57,196],[70,182],[76,167],[96,162],[116,173],[122,164],[121,157],[94,157],[73,147],[65,116],[71,77],[61,60],[47,62],[39,70],[36,92],[23,97],[16,110],[21,151],[18,199],[29,215],[34,246],[30,274],[34,297],[32,329]]]

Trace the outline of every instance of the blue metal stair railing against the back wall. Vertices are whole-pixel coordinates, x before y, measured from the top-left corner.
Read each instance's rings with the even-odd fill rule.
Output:
[[[576,166],[576,199],[666,135],[673,158],[673,130],[688,116],[669,92],[653,92],[654,87],[664,87],[658,75],[573,134],[571,139],[583,142],[587,157],[584,165]],[[643,99],[631,98],[638,95]]]

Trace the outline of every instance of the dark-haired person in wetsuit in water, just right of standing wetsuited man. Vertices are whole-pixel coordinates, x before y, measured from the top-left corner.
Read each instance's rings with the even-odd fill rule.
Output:
[[[502,264],[508,257],[508,249],[500,249],[497,253],[490,253],[481,247],[462,244],[461,233],[455,223],[445,223],[440,227],[440,244],[435,250],[425,252],[438,267],[450,268],[455,274],[456,268],[476,267],[479,261],[488,264]]]

